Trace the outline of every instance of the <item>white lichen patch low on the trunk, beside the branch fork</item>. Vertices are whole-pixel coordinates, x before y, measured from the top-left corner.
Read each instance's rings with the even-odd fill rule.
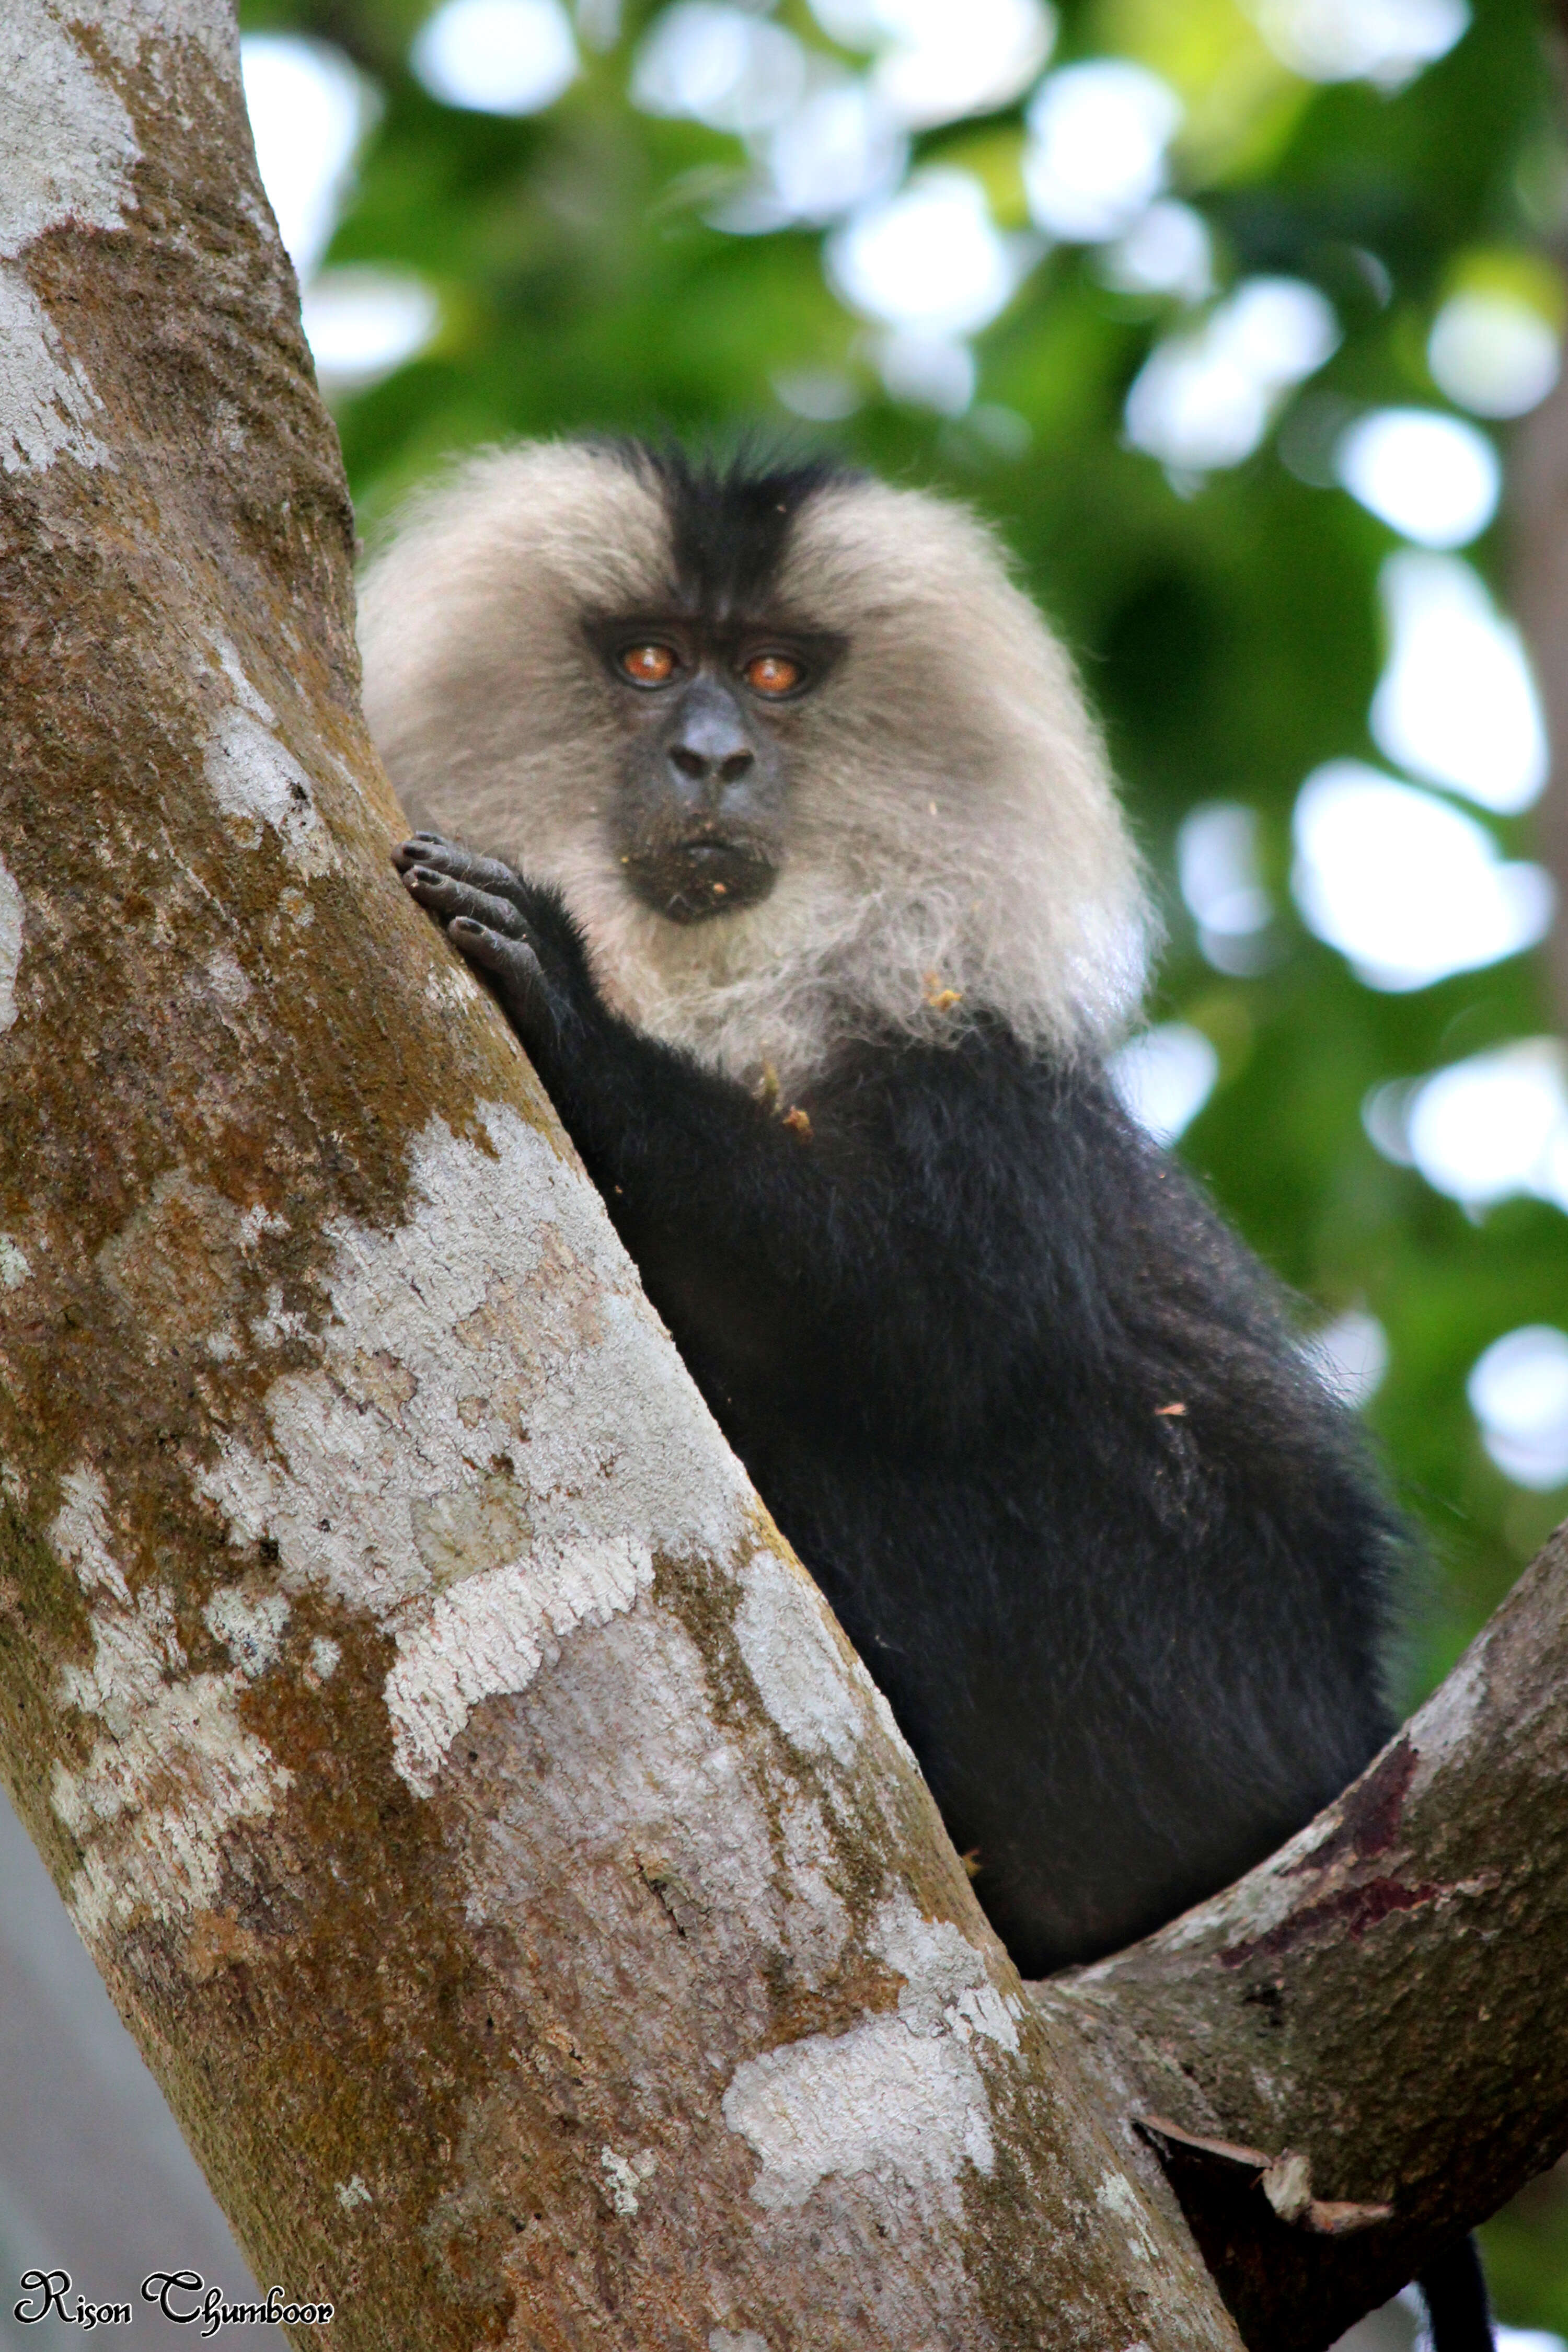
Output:
[[[748,2058],[724,2093],[724,2122],[762,2161],[752,2197],[769,2211],[804,2204],[832,2173],[952,2192],[966,2164],[994,2164],[973,2039],[1016,2051],[1018,2027],[985,1955],[903,1891],[867,1943],[905,1978],[898,2016]]]

